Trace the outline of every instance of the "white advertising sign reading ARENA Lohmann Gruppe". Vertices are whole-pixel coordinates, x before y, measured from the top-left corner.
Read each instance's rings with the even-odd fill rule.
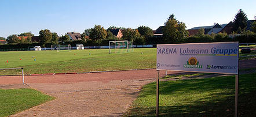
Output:
[[[238,42],[158,44],[157,70],[238,74]]]

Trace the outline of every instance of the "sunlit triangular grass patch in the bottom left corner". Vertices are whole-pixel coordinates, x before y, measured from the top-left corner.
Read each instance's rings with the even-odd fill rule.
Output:
[[[0,89],[0,116],[10,116],[53,99],[34,89]]]

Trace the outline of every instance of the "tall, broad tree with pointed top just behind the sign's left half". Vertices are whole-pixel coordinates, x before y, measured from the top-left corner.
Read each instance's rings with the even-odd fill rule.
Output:
[[[169,20],[164,24],[163,37],[167,42],[176,43],[188,36],[186,25],[183,22],[176,20],[174,14],[171,14]]]

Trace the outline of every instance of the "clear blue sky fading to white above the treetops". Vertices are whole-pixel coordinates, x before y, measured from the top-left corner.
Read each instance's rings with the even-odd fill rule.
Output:
[[[23,32],[39,35],[50,29],[58,35],[83,32],[102,25],[137,28],[140,25],[157,29],[170,14],[185,22],[187,29],[214,22],[232,21],[239,9],[248,20],[256,15],[255,0],[171,1],[171,0],[0,0],[0,36]]]

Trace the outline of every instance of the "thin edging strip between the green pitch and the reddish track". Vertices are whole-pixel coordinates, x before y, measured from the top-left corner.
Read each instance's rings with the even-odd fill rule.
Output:
[[[105,70],[105,71],[87,71],[87,72],[79,72],[79,73],[24,74],[24,76],[54,76],[54,75],[65,75],[65,74],[88,74],[88,73],[103,73],[103,72],[131,71],[131,70],[150,70],[150,69],[156,69],[156,68],[127,69],[127,70]],[[0,77],[4,77],[4,76],[22,76],[22,75],[0,75]]]

